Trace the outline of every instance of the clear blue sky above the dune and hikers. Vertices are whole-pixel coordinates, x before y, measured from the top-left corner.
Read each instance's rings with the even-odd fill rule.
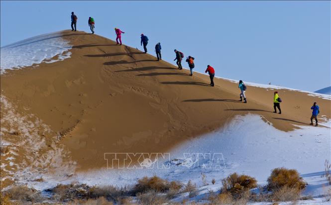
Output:
[[[70,29],[115,38],[149,53],[161,42],[163,59],[176,48],[196,58],[196,71],[210,64],[216,75],[255,83],[315,91],[331,85],[330,1],[3,1],[1,46],[48,32]],[[188,67],[186,62],[183,62]]]

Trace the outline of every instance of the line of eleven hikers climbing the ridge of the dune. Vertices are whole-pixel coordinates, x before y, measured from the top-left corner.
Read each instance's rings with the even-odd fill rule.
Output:
[[[71,29],[72,29],[72,31],[77,31],[77,19],[78,18],[74,14],[74,12],[71,12]],[[91,17],[91,16],[89,17],[88,24],[89,24],[92,34],[94,34],[95,20],[93,17]],[[123,34],[123,33],[125,33],[125,32],[121,31],[119,28],[115,28],[116,44],[122,45],[121,34]],[[118,42],[118,40],[119,40],[119,42]],[[144,35],[143,33],[140,35],[140,46],[143,46],[144,53],[147,53],[148,40],[149,40],[148,37],[146,35]],[[156,53],[157,61],[162,60],[161,49],[162,49],[161,43],[157,43],[155,45],[155,50],[154,50]],[[182,52],[178,51],[177,49],[175,49],[174,52],[176,54],[176,58],[174,59],[174,61],[176,61],[178,69],[182,70],[183,69],[182,60],[184,58],[184,54]],[[195,67],[194,66],[194,57],[192,57],[192,56],[187,57],[186,62],[188,63],[189,68],[190,68],[190,76],[193,76],[193,68]],[[212,66],[208,65],[205,73],[207,73],[207,72],[208,72],[210,80],[211,80],[210,85],[212,87],[214,87],[215,86],[215,84],[214,84],[215,69]],[[247,99],[246,99],[246,95],[245,95],[247,86],[243,83],[242,80],[239,81],[238,88],[240,89],[240,95],[239,95],[240,100],[239,101],[242,102],[242,100],[243,100],[243,103],[247,103]],[[278,113],[281,114],[282,110],[280,108],[280,103],[282,103],[282,100],[279,98],[277,91],[274,92],[273,103],[274,103],[274,113],[277,113],[277,108],[278,108],[278,110],[279,110]],[[315,126],[318,126],[317,116],[320,113],[320,108],[317,105],[317,103],[315,102],[313,104],[313,106],[311,107],[311,109],[313,110],[313,112],[312,112],[310,124],[313,125],[314,124],[313,119],[315,119],[315,122],[316,122]]]

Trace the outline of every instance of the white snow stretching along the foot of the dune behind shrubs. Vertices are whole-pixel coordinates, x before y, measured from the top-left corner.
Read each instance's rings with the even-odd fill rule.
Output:
[[[43,183],[27,183],[39,190],[56,186],[58,183],[70,182],[123,186],[135,184],[144,176],[156,175],[183,183],[192,180],[198,188],[200,187],[199,196],[203,198],[210,191],[219,191],[221,179],[231,173],[250,175],[258,180],[259,185],[265,185],[272,169],[285,167],[297,169],[309,184],[304,194],[319,199],[331,187],[322,177],[325,160],[331,161],[330,128],[301,128],[283,132],[270,126],[270,123],[265,122],[259,115],[237,116],[221,130],[192,139],[171,150],[170,161],[161,159],[155,162],[152,159],[151,162],[155,163],[149,168],[105,168],[77,173],[70,179],[53,177],[53,180],[45,180]],[[105,160],[105,167],[106,165]],[[160,169],[160,165],[166,168]],[[202,175],[206,175],[209,185],[204,186]],[[215,185],[212,185],[212,179],[216,179]],[[183,197],[187,196],[182,196],[181,200]],[[197,197],[195,200],[200,198]]]

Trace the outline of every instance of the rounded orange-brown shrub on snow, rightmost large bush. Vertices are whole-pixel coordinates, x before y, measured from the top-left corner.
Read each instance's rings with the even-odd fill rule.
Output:
[[[275,168],[268,178],[268,190],[277,191],[283,187],[294,188],[300,191],[306,187],[306,183],[300,177],[297,170]]]

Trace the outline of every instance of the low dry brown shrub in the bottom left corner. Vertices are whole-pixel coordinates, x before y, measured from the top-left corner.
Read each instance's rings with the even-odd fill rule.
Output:
[[[42,197],[39,191],[28,188],[26,186],[11,187],[7,191],[5,191],[3,195],[5,197],[4,200],[7,200],[7,202],[9,202],[10,200],[15,200],[21,203],[27,203],[27,202],[40,203],[44,200],[44,198]],[[2,199],[1,199],[1,205],[2,205]]]

